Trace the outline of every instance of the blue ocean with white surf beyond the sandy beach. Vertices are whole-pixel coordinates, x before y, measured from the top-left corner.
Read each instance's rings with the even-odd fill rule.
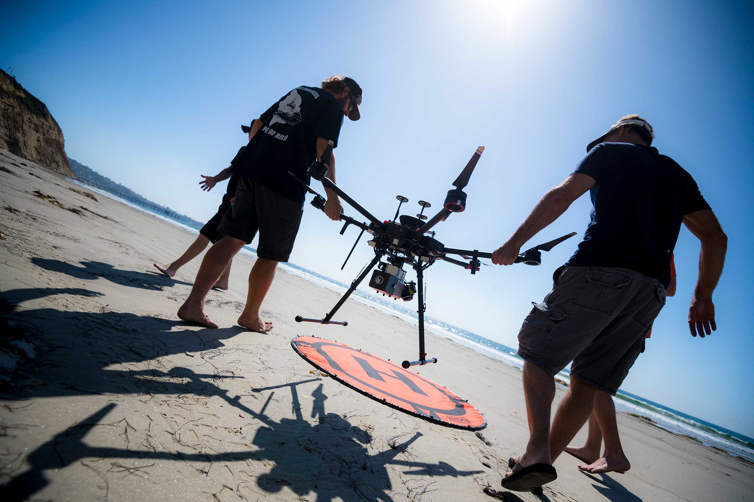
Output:
[[[199,233],[199,228],[183,224],[175,218],[157,214],[149,208],[133,204],[132,202],[127,202],[112,193],[90,187],[79,181],[70,179],[69,181],[95,193],[99,193],[100,195],[118,200],[132,208],[152,214],[155,218],[160,218],[163,221],[167,221],[170,224],[188,230],[195,235],[198,235]],[[250,246],[244,246],[244,248],[241,249],[241,253],[256,257],[256,250]],[[280,268],[333,291],[342,293],[348,289],[348,284],[336,281],[335,279],[331,279],[303,267],[296,266],[294,263],[280,263]],[[351,298],[361,303],[365,303],[366,305],[381,309],[391,315],[396,315],[398,318],[401,318],[408,323],[418,324],[418,317],[414,310],[406,309],[397,302],[391,302],[382,297],[378,297],[377,294],[370,294],[369,292],[357,290],[351,295]],[[510,348],[507,345],[494,342],[483,336],[464,330],[463,328],[453,326],[452,324],[431,317],[425,316],[425,327],[437,335],[445,336],[459,345],[472,348],[487,357],[492,357],[493,359],[512,367],[517,367],[519,369],[523,368],[523,359],[516,354],[515,349]],[[563,370],[562,373],[559,374],[559,379],[562,379],[563,381],[567,382],[569,378],[568,370]],[[618,391],[618,395],[615,397],[615,408],[621,412],[639,415],[650,424],[661,427],[667,431],[691,437],[706,446],[712,446],[713,448],[728,452],[728,454],[735,457],[754,462],[754,439],[751,437],[744,436],[735,431],[730,431],[725,427],[688,415],[677,409],[669,408],[660,403],[654,403],[654,401],[637,396],[636,394],[631,394],[628,391]]]

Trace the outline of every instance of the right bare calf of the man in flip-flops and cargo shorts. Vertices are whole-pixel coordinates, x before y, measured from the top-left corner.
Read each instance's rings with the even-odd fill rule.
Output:
[[[571,386],[563,396],[555,412],[553,427],[550,429],[550,457],[553,462],[560,456],[568,443],[587,423],[594,408],[597,389],[581,380],[571,378]]]

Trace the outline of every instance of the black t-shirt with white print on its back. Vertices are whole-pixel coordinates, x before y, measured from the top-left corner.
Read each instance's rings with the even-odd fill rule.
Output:
[[[318,87],[301,86],[272,105],[231,172],[256,181],[303,205],[306,190],[288,172],[309,183],[308,167],[317,159],[317,136],[338,145],[343,108]]]

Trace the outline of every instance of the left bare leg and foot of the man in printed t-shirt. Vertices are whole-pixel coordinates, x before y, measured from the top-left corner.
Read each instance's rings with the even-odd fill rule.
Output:
[[[201,260],[199,272],[194,281],[191,294],[178,309],[178,317],[206,327],[219,327],[215,321],[204,313],[204,299],[217,282],[228,262],[244,247],[245,242],[231,236],[225,236],[207,251]]]

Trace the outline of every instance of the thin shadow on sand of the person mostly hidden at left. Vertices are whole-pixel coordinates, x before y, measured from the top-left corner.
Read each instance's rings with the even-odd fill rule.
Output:
[[[115,282],[115,284],[121,284],[130,288],[162,291],[165,286],[173,286],[175,284],[192,285],[190,282],[179,281],[176,278],[159,272],[136,272],[135,270],[116,269],[112,264],[101,261],[81,260],[78,262],[79,265],[76,265],[62,260],[32,257],[31,262],[36,266],[41,266],[45,270],[62,272],[86,281],[102,277],[108,281]]]

